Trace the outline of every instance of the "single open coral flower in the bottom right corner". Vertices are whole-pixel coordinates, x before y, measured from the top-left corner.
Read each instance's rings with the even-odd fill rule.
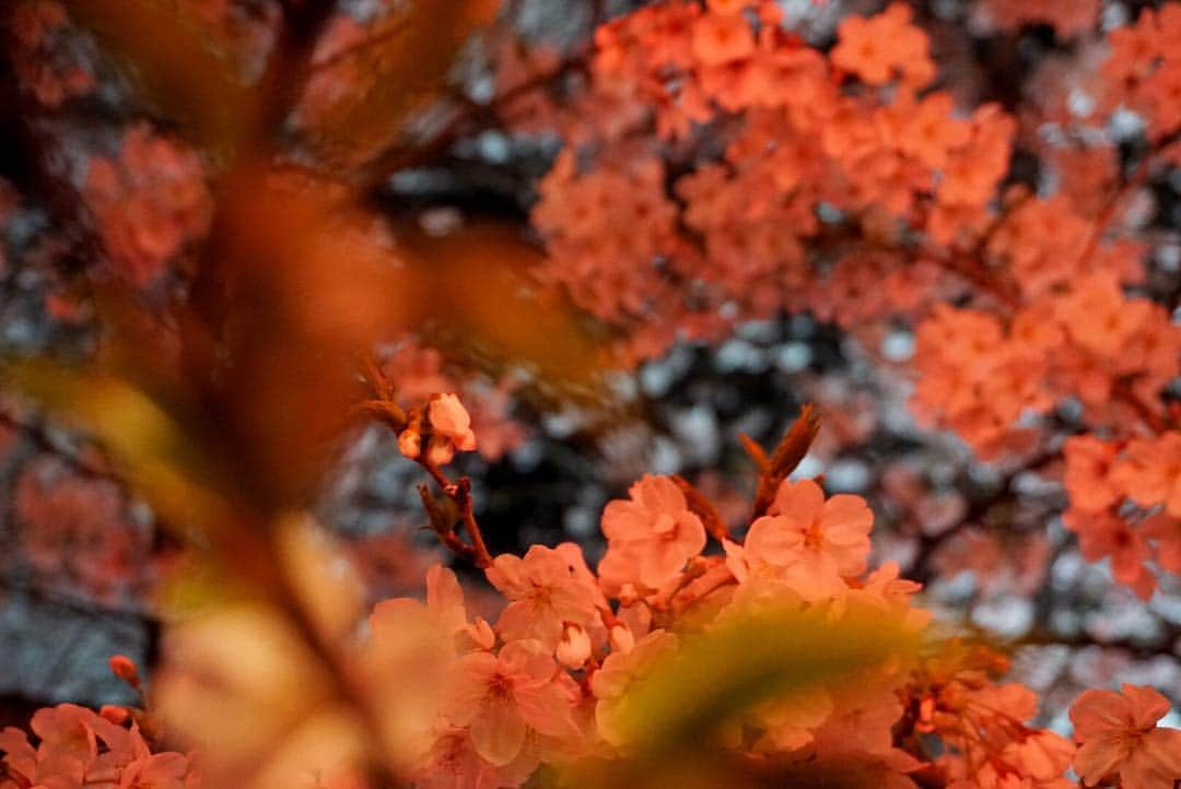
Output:
[[[1092,787],[1120,774],[1123,789],[1170,787],[1181,776],[1181,731],[1157,728],[1169,701],[1147,685],[1088,690],[1070,708],[1074,768]]]

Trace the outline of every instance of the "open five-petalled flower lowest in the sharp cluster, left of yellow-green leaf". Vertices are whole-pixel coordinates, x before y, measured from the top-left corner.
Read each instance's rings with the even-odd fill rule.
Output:
[[[541,642],[505,644],[498,656],[472,652],[459,659],[444,691],[443,714],[469,726],[476,752],[492,764],[513,762],[530,731],[576,737],[570,702],[555,682],[559,671]]]

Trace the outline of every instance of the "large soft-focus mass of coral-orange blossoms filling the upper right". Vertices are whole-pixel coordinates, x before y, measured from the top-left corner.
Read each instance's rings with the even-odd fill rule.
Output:
[[[985,4],[1003,26],[1063,37],[1095,22],[1091,2],[1018,5]],[[1110,32],[1090,81],[1050,63],[1038,80],[1052,100],[1010,113],[932,87],[932,42],[905,4],[846,17],[827,50],[765,1],[618,17],[595,34],[587,92],[632,111],[530,119],[567,144],[533,212],[543,274],[620,330],[625,363],[783,311],[870,347],[905,321],[912,410],[985,461],[1061,447],[1063,413],[1078,413],[1066,433],[1163,441],[1181,327],[1134,199],[1181,150],[1179,20],[1175,5],[1146,9]],[[1071,88],[1092,106],[1071,105]],[[1102,129],[1117,109],[1147,125],[1134,172]],[[1036,192],[1011,184],[1024,150],[1052,173]],[[1154,571],[1130,567],[1174,572],[1153,547],[1173,526],[1137,505],[1153,537],[1115,574],[1143,596]],[[1079,512],[1066,522],[1087,555],[1113,555],[1095,547],[1113,524]]]

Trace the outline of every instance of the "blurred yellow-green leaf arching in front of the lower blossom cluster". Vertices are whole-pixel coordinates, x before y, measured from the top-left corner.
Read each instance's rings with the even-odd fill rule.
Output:
[[[827,607],[776,606],[727,614],[705,633],[683,638],[671,658],[628,690],[615,721],[629,758],[611,769],[575,768],[573,782],[757,785],[757,771],[718,745],[723,724],[768,699],[896,669],[918,653],[920,642],[921,632],[901,616],[868,606],[839,617]]]

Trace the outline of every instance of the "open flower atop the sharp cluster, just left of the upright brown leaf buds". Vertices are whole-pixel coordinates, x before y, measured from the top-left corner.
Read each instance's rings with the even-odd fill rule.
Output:
[[[608,591],[637,581],[659,589],[702,552],[705,527],[667,476],[646,474],[628,494],[629,501],[612,501],[602,513],[607,553],[599,576]]]

